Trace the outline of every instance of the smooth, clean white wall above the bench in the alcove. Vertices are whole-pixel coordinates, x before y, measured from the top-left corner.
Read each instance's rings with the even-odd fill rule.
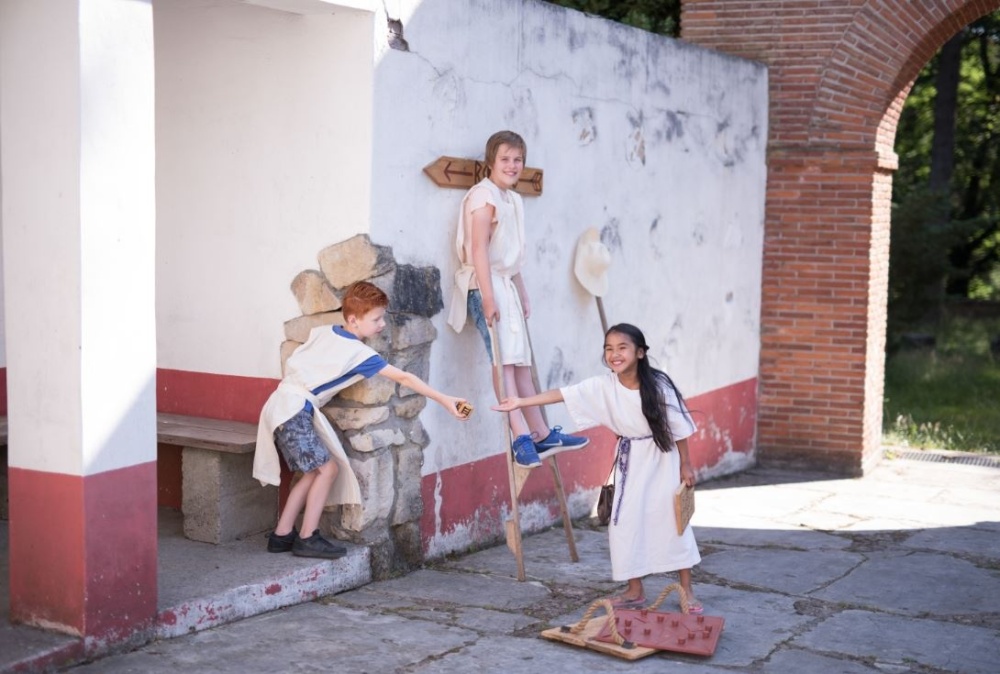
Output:
[[[278,378],[292,279],[369,229],[373,14],[155,0],[154,19],[159,367]]]

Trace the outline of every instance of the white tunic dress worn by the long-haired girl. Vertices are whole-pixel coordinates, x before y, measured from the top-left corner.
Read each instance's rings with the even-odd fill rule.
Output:
[[[613,372],[560,390],[580,428],[606,426],[619,437],[628,438],[651,435],[639,391],[622,386]],[[694,433],[690,414],[681,408],[672,390],[667,394],[667,405],[674,440]],[[628,580],[690,569],[701,561],[691,527],[678,536],[674,525],[674,491],[680,486],[680,453],[676,447],[663,452],[652,438],[632,440],[628,474],[623,479],[620,464],[616,463],[615,481],[615,504],[608,524],[612,578]]]

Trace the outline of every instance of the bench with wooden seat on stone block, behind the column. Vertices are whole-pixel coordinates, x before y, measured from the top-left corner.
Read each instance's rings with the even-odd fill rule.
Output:
[[[156,439],[181,447],[185,536],[222,543],[274,526],[278,488],[262,487],[252,477],[256,425],[160,413],[156,415]],[[6,417],[0,417],[0,443],[0,518],[6,519]]]

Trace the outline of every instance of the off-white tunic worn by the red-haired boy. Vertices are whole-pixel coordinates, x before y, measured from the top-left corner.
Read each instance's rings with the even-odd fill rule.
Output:
[[[326,505],[360,504],[361,488],[340,439],[320,408],[341,390],[365,378],[358,371],[372,357],[381,358],[359,339],[337,334],[332,326],[313,328],[309,338],[285,361],[285,376],[264,403],[257,426],[253,476],[262,484],[281,483],[281,464],[274,444],[274,429],[312,403],[313,427],[340,469]]]

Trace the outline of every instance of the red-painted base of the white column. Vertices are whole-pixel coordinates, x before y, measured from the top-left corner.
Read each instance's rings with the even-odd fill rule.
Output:
[[[10,615],[116,639],[156,616],[156,464],[80,477],[11,468]]]

